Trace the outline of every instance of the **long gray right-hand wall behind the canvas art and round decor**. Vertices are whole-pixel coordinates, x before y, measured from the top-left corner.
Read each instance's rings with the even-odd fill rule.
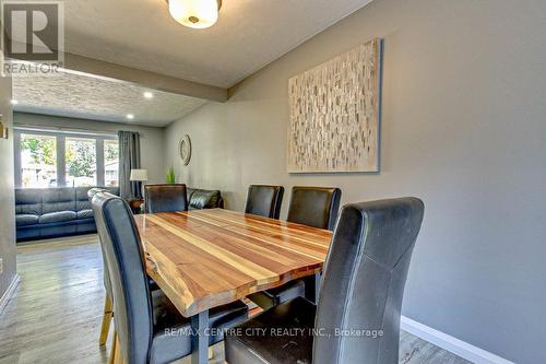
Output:
[[[545,14],[544,0],[376,0],[232,89],[229,102],[171,125],[166,166],[222,189],[235,210],[260,183],[339,186],[344,202],[423,198],[403,314],[511,361],[546,363]],[[288,78],[376,36],[381,173],[288,175]],[[177,156],[183,133],[188,167]]]

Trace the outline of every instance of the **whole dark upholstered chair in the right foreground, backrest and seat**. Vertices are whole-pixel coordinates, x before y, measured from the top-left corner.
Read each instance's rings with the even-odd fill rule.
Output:
[[[235,327],[226,336],[226,362],[399,363],[400,310],[423,213],[416,198],[346,206],[318,305],[293,298]],[[253,328],[265,334],[245,334]],[[297,334],[275,336],[280,328]]]

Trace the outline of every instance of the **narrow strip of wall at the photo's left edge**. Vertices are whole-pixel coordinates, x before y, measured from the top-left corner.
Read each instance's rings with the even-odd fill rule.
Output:
[[[0,297],[15,278],[15,196],[13,190],[13,129],[11,78],[0,77],[0,114],[2,124],[9,127],[10,139],[0,139]]]

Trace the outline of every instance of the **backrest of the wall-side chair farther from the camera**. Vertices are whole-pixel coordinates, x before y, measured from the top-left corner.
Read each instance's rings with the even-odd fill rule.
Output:
[[[278,219],[283,196],[283,186],[250,185],[245,212]]]

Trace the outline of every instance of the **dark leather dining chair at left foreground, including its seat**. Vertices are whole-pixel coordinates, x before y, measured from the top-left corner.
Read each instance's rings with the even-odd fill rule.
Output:
[[[116,361],[131,364],[170,363],[191,353],[191,324],[161,291],[151,291],[145,256],[131,210],[121,198],[99,192],[92,201],[110,278]],[[212,345],[223,330],[248,317],[240,301],[210,312]]]

